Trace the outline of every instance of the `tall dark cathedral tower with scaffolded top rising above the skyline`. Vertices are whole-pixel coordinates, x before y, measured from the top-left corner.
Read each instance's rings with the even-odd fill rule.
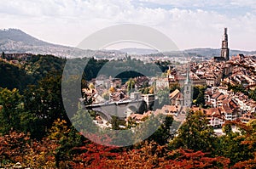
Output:
[[[228,61],[230,60],[230,48],[228,44],[228,28],[224,28],[224,35],[222,37],[220,57],[214,57],[214,61]]]

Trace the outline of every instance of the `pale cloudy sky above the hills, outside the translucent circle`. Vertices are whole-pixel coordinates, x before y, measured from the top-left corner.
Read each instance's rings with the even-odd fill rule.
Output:
[[[256,50],[255,0],[0,0],[0,23],[68,46],[111,25],[147,25],[180,49],[219,48],[228,27],[230,48]]]

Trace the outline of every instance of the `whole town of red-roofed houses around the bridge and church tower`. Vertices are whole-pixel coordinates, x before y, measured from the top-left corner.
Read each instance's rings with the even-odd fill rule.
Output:
[[[241,63],[241,65],[239,65]],[[180,67],[169,67],[166,76],[164,77],[137,77],[135,79],[136,89],[143,87],[145,84],[155,85],[154,89],[163,89],[170,87],[173,84],[178,84],[180,87],[184,86],[187,78],[189,77],[191,85],[206,86],[207,89],[204,93],[205,106],[207,108],[190,107],[185,105],[185,93],[176,89],[169,94],[170,104],[165,104],[162,108],[152,110],[152,106],[157,98],[153,93],[127,93],[127,86],[123,84],[121,79],[97,77],[93,80],[95,84],[96,96],[100,96],[102,88],[114,88],[114,91],[108,91],[109,102],[119,101],[121,99],[143,99],[147,105],[148,110],[143,114],[133,113],[128,118],[137,122],[142,122],[148,115],[165,114],[173,115],[176,121],[183,121],[188,110],[199,110],[206,115],[209,125],[212,127],[221,127],[225,121],[236,121],[240,119],[242,122],[255,118],[256,102],[249,99],[244,93],[235,93],[228,90],[227,84],[241,85],[255,89],[256,83],[256,58],[251,56],[244,56],[238,54],[232,57],[229,61],[214,62],[211,61],[201,63],[190,63],[189,71],[187,65],[180,65]],[[188,66],[187,66],[188,67]],[[109,89],[110,90],[110,89]],[[105,89],[106,92],[106,89]],[[154,91],[157,92],[157,91]],[[191,96],[192,97],[192,96]],[[104,101],[104,99],[98,99]],[[105,100],[106,101],[106,100]],[[191,98],[192,102],[192,98]]]

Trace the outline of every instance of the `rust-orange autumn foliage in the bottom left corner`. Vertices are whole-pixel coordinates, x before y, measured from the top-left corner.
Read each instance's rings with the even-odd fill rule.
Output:
[[[48,138],[36,141],[23,132],[9,132],[0,137],[0,161],[11,166],[20,162],[26,167],[49,168],[55,166],[56,147],[57,144]]]

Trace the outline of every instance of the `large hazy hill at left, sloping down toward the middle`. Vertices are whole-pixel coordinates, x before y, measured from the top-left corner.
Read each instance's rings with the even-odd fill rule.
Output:
[[[92,50],[67,47],[41,41],[18,29],[0,30],[0,52],[5,53],[29,53],[29,54],[53,54],[59,57],[76,58],[95,56]],[[108,51],[100,51],[100,55],[112,55]]]

